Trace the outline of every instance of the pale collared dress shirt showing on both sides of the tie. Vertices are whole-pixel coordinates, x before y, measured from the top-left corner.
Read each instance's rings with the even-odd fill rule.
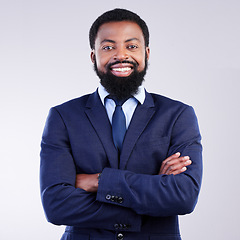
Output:
[[[100,99],[101,99],[103,105],[106,108],[110,123],[112,124],[112,116],[113,116],[116,104],[115,104],[114,100],[112,100],[110,98],[106,98],[109,95],[109,93],[106,91],[106,89],[101,84],[99,85],[99,88],[98,88],[98,94],[100,96]],[[143,86],[140,86],[138,88],[138,93],[135,94],[133,97],[129,98],[122,105],[122,109],[123,109],[123,112],[126,117],[127,129],[131,122],[133,113],[134,113],[138,103],[143,104],[144,100],[145,100],[145,89]]]

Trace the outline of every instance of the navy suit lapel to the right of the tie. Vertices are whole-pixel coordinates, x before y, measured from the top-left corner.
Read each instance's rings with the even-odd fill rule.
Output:
[[[126,167],[128,159],[138,138],[148,125],[154,113],[155,108],[153,98],[151,94],[146,92],[146,99],[142,105],[139,104],[137,106],[133,114],[129,128],[126,132],[120,156],[120,169],[124,169]]]

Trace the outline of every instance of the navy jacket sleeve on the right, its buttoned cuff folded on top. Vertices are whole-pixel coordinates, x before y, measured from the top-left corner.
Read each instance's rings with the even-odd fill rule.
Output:
[[[170,132],[168,156],[176,152],[190,156],[192,164],[186,172],[146,175],[106,168],[99,182],[97,200],[149,216],[165,217],[192,212],[202,178],[201,136],[192,107],[187,106],[180,113]]]

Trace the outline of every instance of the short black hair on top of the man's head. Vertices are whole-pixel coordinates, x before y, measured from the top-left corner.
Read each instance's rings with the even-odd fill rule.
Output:
[[[147,27],[147,24],[145,23],[145,21],[143,19],[141,19],[134,12],[131,12],[126,9],[115,8],[113,10],[103,13],[92,24],[90,31],[89,31],[89,43],[90,43],[91,49],[95,48],[95,40],[97,37],[98,30],[104,23],[121,22],[121,21],[130,21],[130,22],[137,23],[139,25],[139,27],[142,29],[145,46],[148,47],[149,31],[148,31],[148,27]]]

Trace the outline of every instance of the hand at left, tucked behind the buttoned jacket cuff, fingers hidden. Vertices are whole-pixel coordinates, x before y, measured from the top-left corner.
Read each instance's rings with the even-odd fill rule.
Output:
[[[99,174],[77,174],[76,188],[82,188],[87,192],[97,192]]]

